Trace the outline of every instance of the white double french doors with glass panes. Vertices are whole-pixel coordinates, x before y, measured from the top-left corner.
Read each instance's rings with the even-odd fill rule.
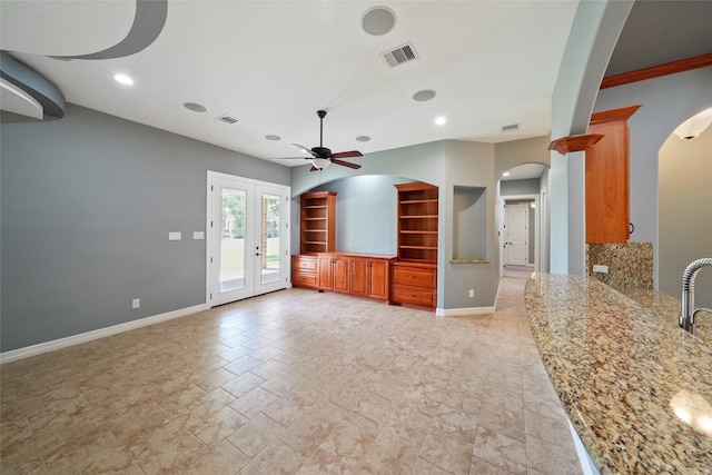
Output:
[[[208,171],[209,307],[287,287],[289,187]]]

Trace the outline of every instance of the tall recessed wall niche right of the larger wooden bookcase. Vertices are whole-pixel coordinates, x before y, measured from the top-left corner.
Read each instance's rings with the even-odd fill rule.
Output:
[[[453,261],[487,261],[487,188],[453,191]]]

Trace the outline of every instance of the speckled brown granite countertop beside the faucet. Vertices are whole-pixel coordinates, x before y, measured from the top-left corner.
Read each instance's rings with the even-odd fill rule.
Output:
[[[680,300],[621,290],[576,276],[527,283],[534,339],[568,418],[601,473],[712,474],[712,315],[694,337],[678,326]]]

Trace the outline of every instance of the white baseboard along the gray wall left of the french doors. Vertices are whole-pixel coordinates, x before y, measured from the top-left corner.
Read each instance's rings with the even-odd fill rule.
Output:
[[[136,328],[146,327],[161,321],[172,320],[174,318],[186,317],[198,311],[206,310],[206,304],[194,305],[192,307],[179,308],[178,310],[167,311],[152,317],[139,318],[138,320],[127,321],[125,324],[113,325],[97,330],[81,333],[79,335],[68,336],[66,338],[53,339],[24,348],[12,349],[10,352],[0,353],[0,365],[4,363],[16,362],[18,359],[28,358],[30,356],[41,355],[42,353],[53,352],[68,346],[79,345],[80,343],[91,342],[107,336],[129,331]]]

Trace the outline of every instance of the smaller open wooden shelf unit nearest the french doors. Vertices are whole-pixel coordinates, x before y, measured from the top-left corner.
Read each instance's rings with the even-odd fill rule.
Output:
[[[300,197],[301,254],[329,253],[335,249],[336,192],[310,191]]]

